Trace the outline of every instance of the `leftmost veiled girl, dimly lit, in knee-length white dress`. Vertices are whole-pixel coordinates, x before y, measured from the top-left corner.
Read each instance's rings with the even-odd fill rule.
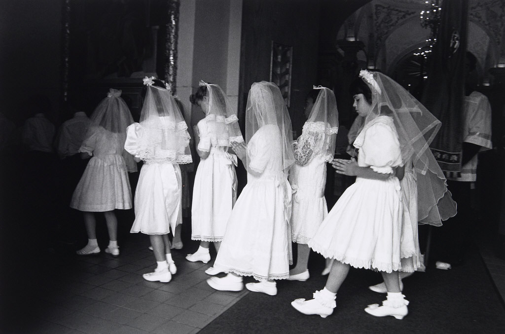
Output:
[[[78,255],[100,253],[93,212],[103,212],[109,231],[105,252],[119,255],[118,221],[114,209],[131,209],[131,188],[127,172],[136,172],[133,157],[124,150],[126,127],[133,123],[121,90],[110,89],[91,115],[91,126],[79,152],[92,156],[74,190],[70,207],[84,212],[88,244]]]

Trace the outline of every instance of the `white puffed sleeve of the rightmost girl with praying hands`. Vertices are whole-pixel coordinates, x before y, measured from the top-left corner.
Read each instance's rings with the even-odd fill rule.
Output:
[[[401,166],[401,151],[396,130],[377,122],[364,130],[363,144],[359,148],[358,163],[377,173],[389,174],[393,167]]]

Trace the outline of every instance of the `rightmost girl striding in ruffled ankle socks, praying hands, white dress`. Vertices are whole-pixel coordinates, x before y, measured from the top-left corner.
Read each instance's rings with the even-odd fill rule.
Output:
[[[418,144],[410,137],[416,127],[410,111],[419,103],[389,77],[366,70],[363,81],[354,85],[354,107],[365,118],[354,147],[358,161],[336,159],[337,173],[356,175],[323,221],[309,246],[326,258],[333,258],[326,286],[314,293],[314,299],[294,300],[291,305],[304,314],[326,317],[333,313],[335,295],[350,266],[380,271],[388,292],[383,305],[365,309],[375,316],[407,315],[407,305],[400,292],[398,270],[405,254],[415,254],[415,245],[400,245],[403,207],[399,179],[401,168],[412,159]],[[364,84],[366,83],[366,84]]]

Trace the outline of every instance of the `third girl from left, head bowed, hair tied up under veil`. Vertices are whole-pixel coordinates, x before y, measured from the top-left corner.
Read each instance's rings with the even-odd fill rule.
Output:
[[[237,198],[237,156],[228,152],[231,142],[243,142],[236,111],[226,94],[216,84],[200,81],[195,94],[190,97],[206,114],[196,126],[196,152],[200,163],[196,170],[191,205],[191,239],[200,246],[186,259],[191,262],[210,261],[210,243],[216,253],[226,231],[226,222]],[[209,274],[218,273],[212,267]]]

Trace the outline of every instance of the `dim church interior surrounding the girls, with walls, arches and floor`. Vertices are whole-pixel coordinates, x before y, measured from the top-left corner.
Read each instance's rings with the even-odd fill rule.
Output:
[[[379,274],[363,269],[349,273],[332,316],[300,317],[288,303],[300,294],[310,296],[325,281],[320,275],[324,258],[314,252],[311,278],[279,282],[277,296],[210,288],[205,270],[212,262],[185,260],[198,248],[190,237],[195,152],[183,170],[184,246],[173,250],[178,273],[171,282],[142,279],[153,266],[153,252],[145,234],[130,233],[134,209],[116,210],[119,257],[104,252],[78,256],[86,231],[82,215],[68,206],[74,176],[55,152],[50,161],[31,160],[18,144],[18,132],[35,111],[43,112],[57,133],[75,112],[90,116],[110,88],[122,91],[138,122],[146,76],[172,85],[189,129],[205,117],[189,96],[200,80],[219,84],[244,133],[249,88],[265,80],[280,87],[294,138],[306,121],[313,85],[333,90],[339,121],[335,157],[343,157],[356,117],[351,81],[360,69],[379,71],[421,100],[434,21],[440,20],[433,9],[449,1],[457,0],[2,2],[0,116],[14,124],[17,134],[9,148],[2,148],[0,332],[505,332],[503,0],[463,1],[468,6],[466,50],[476,58],[470,80],[492,112],[492,149],[478,154],[476,221],[467,259],[452,269],[437,269],[436,259],[428,258],[437,227],[420,225],[426,271],[405,280],[411,304],[402,321],[363,312],[367,303],[380,301],[367,289]],[[426,13],[430,10],[432,16]],[[330,165],[327,170],[325,197],[331,209],[352,180],[335,174]],[[236,173],[240,194],[247,182],[241,163]],[[133,193],[138,174],[129,174]],[[100,246],[100,238],[107,240],[103,220],[97,219]]]

